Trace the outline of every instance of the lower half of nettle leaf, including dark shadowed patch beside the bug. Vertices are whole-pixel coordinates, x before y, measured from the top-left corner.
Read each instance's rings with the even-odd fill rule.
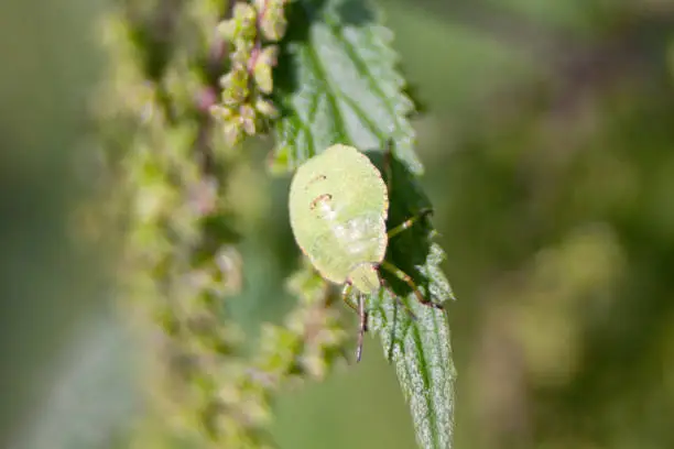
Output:
[[[369,156],[383,166],[383,154],[370,152]],[[393,160],[390,173],[389,229],[431,206],[404,164]],[[442,304],[454,299],[454,294],[441,270],[445,254],[432,242],[433,234],[425,220],[393,237],[387,261],[412,276],[426,299]],[[389,288],[369,298],[370,329],[379,333],[387,360],[395,365],[418,445],[424,449],[450,448],[456,371],[445,313],[422,305],[406,284],[382,274]]]

